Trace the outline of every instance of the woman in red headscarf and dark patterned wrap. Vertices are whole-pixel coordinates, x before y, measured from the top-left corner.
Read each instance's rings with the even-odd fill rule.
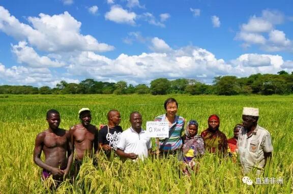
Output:
[[[220,118],[217,115],[211,115],[208,119],[209,128],[201,132],[204,141],[204,147],[210,153],[226,155],[228,144],[226,135],[219,130]]]

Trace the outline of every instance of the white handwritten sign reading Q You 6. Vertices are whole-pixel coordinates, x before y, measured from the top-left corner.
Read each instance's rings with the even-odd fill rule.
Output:
[[[146,132],[148,137],[167,138],[169,137],[169,123],[158,122],[158,121],[148,121]]]

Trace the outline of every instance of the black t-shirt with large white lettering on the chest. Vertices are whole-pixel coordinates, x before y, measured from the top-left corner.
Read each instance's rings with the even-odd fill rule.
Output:
[[[108,126],[105,125],[101,130],[99,130],[98,140],[99,143],[108,144],[111,148],[116,150],[119,138],[121,133],[123,132],[121,126],[116,125],[114,128],[109,127],[108,133]]]

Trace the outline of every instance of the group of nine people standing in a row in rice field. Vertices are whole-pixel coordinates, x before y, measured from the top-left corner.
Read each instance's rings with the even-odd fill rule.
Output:
[[[76,177],[84,157],[93,158],[94,164],[98,165],[95,155],[99,153],[104,153],[108,158],[114,153],[132,160],[143,160],[150,154],[162,157],[174,155],[186,164],[185,174],[197,168],[197,158],[206,152],[220,157],[230,156],[234,162],[239,158],[244,174],[254,169],[260,174],[271,158],[271,136],[266,129],[257,125],[258,108],[243,108],[243,123],[235,126],[234,136],[229,140],[219,130],[220,118],[217,115],[209,117],[209,127],[198,135],[198,122],[190,120],[186,123],[183,117],[178,116],[178,102],[174,98],[168,98],[164,108],[166,113],[156,117],[155,121],[168,122],[169,137],[156,138],[156,148],[152,148],[151,138],[141,128],[142,116],[139,112],[130,114],[131,126],[123,131],[119,125],[121,115],[118,110],[112,109],[107,114],[108,123],[98,130],[91,124],[91,110],[81,108],[78,112],[81,122],[70,130],[64,130],[59,128],[60,113],[54,109],[48,110],[48,129],[37,135],[34,149],[34,161],[43,169],[42,180],[52,176],[54,180],[62,181],[72,174],[72,163],[73,176]],[[41,160],[42,151],[45,161]]]

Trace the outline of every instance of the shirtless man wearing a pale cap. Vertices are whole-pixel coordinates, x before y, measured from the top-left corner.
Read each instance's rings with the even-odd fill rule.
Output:
[[[71,142],[75,148],[75,170],[79,171],[82,159],[85,155],[93,157],[98,150],[98,130],[90,124],[92,120],[91,110],[81,108],[78,112],[81,123],[70,128]],[[94,152],[93,152],[94,148]]]

